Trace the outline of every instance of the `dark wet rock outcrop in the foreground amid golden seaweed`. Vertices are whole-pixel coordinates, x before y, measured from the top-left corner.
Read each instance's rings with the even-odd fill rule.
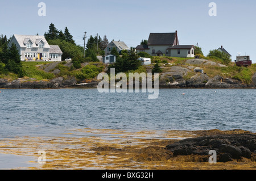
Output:
[[[256,134],[225,134],[188,138],[166,146],[176,155],[208,155],[216,150],[218,162],[232,161],[242,157],[251,158],[256,150]]]

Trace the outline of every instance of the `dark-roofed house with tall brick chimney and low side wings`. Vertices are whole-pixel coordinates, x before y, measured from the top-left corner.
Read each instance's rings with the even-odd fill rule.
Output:
[[[147,45],[138,45],[137,52],[151,56],[195,57],[194,45],[180,45],[177,31],[174,33],[150,33]]]

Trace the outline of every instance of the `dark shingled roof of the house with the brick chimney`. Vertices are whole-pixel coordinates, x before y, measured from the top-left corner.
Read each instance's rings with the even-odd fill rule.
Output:
[[[150,33],[148,45],[174,45],[176,33]]]

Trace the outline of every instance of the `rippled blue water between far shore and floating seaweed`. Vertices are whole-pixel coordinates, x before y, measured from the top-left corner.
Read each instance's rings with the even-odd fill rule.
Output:
[[[158,99],[97,89],[0,91],[0,138],[84,128],[256,132],[256,90],[163,89]]]

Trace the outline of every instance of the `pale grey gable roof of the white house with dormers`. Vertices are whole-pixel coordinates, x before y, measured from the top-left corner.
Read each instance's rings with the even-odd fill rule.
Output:
[[[40,39],[40,41],[42,40],[44,42],[44,48],[50,48],[49,44],[47,43],[47,41],[46,41],[44,36],[37,36],[37,35],[13,35],[13,37],[11,38],[11,41],[14,38],[16,39],[16,41],[18,42],[20,47],[26,47],[26,45],[24,45],[24,44],[26,44],[27,41],[29,41],[29,40],[32,42],[32,47],[36,47],[36,42],[38,42],[38,40]]]

